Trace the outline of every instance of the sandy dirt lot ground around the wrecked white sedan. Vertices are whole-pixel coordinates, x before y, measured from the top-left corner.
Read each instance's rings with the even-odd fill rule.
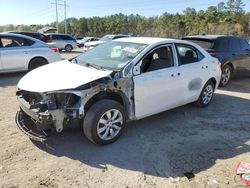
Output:
[[[46,144],[23,135],[14,122],[23,74],[0,76],[0,187],[246,187],[233,170],[250,162],[250,78],[217,90],[207,108],[186,105],[132,122],[100,147],[80,129]]]

